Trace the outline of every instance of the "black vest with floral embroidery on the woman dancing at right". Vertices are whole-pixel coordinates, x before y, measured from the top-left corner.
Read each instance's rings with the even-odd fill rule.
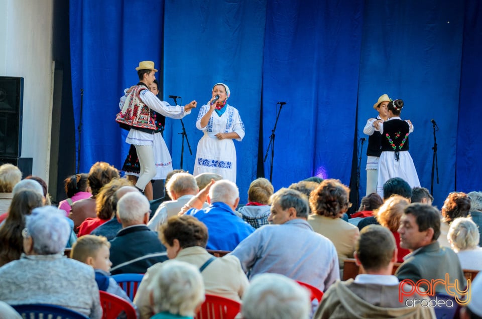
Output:
[[[393,119],[383,123],[382,150],[408,150],[408,133],[410,125],[401,119]]]

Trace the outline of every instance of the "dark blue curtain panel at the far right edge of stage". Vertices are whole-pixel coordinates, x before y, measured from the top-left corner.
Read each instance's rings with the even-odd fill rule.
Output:
[[[480,101],[482,41],[480,39],[482,39],[482,4],[477,0],[467,0],[463,30],[456,158],[456,190],[466,193],[482,191],[482,163],[480,163],[482,161],[480,152],[482,138],[478,131],[482,115],[482,102]],[[448,127],[447,129],[453,130]],[[444,171],[442,168],[440,172],[443,174]]]

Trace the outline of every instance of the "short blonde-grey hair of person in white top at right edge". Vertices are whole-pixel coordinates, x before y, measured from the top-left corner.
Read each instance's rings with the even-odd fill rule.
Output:
[[[477,247],[480,234],[470,217],[459,217],[450,224],[447,239],[452,243],[452,249],[458,252]]]

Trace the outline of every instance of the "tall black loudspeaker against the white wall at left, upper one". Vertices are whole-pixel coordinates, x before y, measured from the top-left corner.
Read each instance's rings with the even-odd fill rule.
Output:
[[[0,156],[22,156],[24,78],[0,76]]]

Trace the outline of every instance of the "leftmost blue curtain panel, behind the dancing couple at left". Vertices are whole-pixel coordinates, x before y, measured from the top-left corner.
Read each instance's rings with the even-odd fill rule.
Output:
[[[127,131],[114,121],[123,89],[139,78],[139,61],[160,66],[164,2],[70,1],[70,52],[76,127],[83,89],[80,172],[97,161],[121,168]],[[159,68],[158,68],[159,69]],[[78,145],[79,136],[76,136]]]

